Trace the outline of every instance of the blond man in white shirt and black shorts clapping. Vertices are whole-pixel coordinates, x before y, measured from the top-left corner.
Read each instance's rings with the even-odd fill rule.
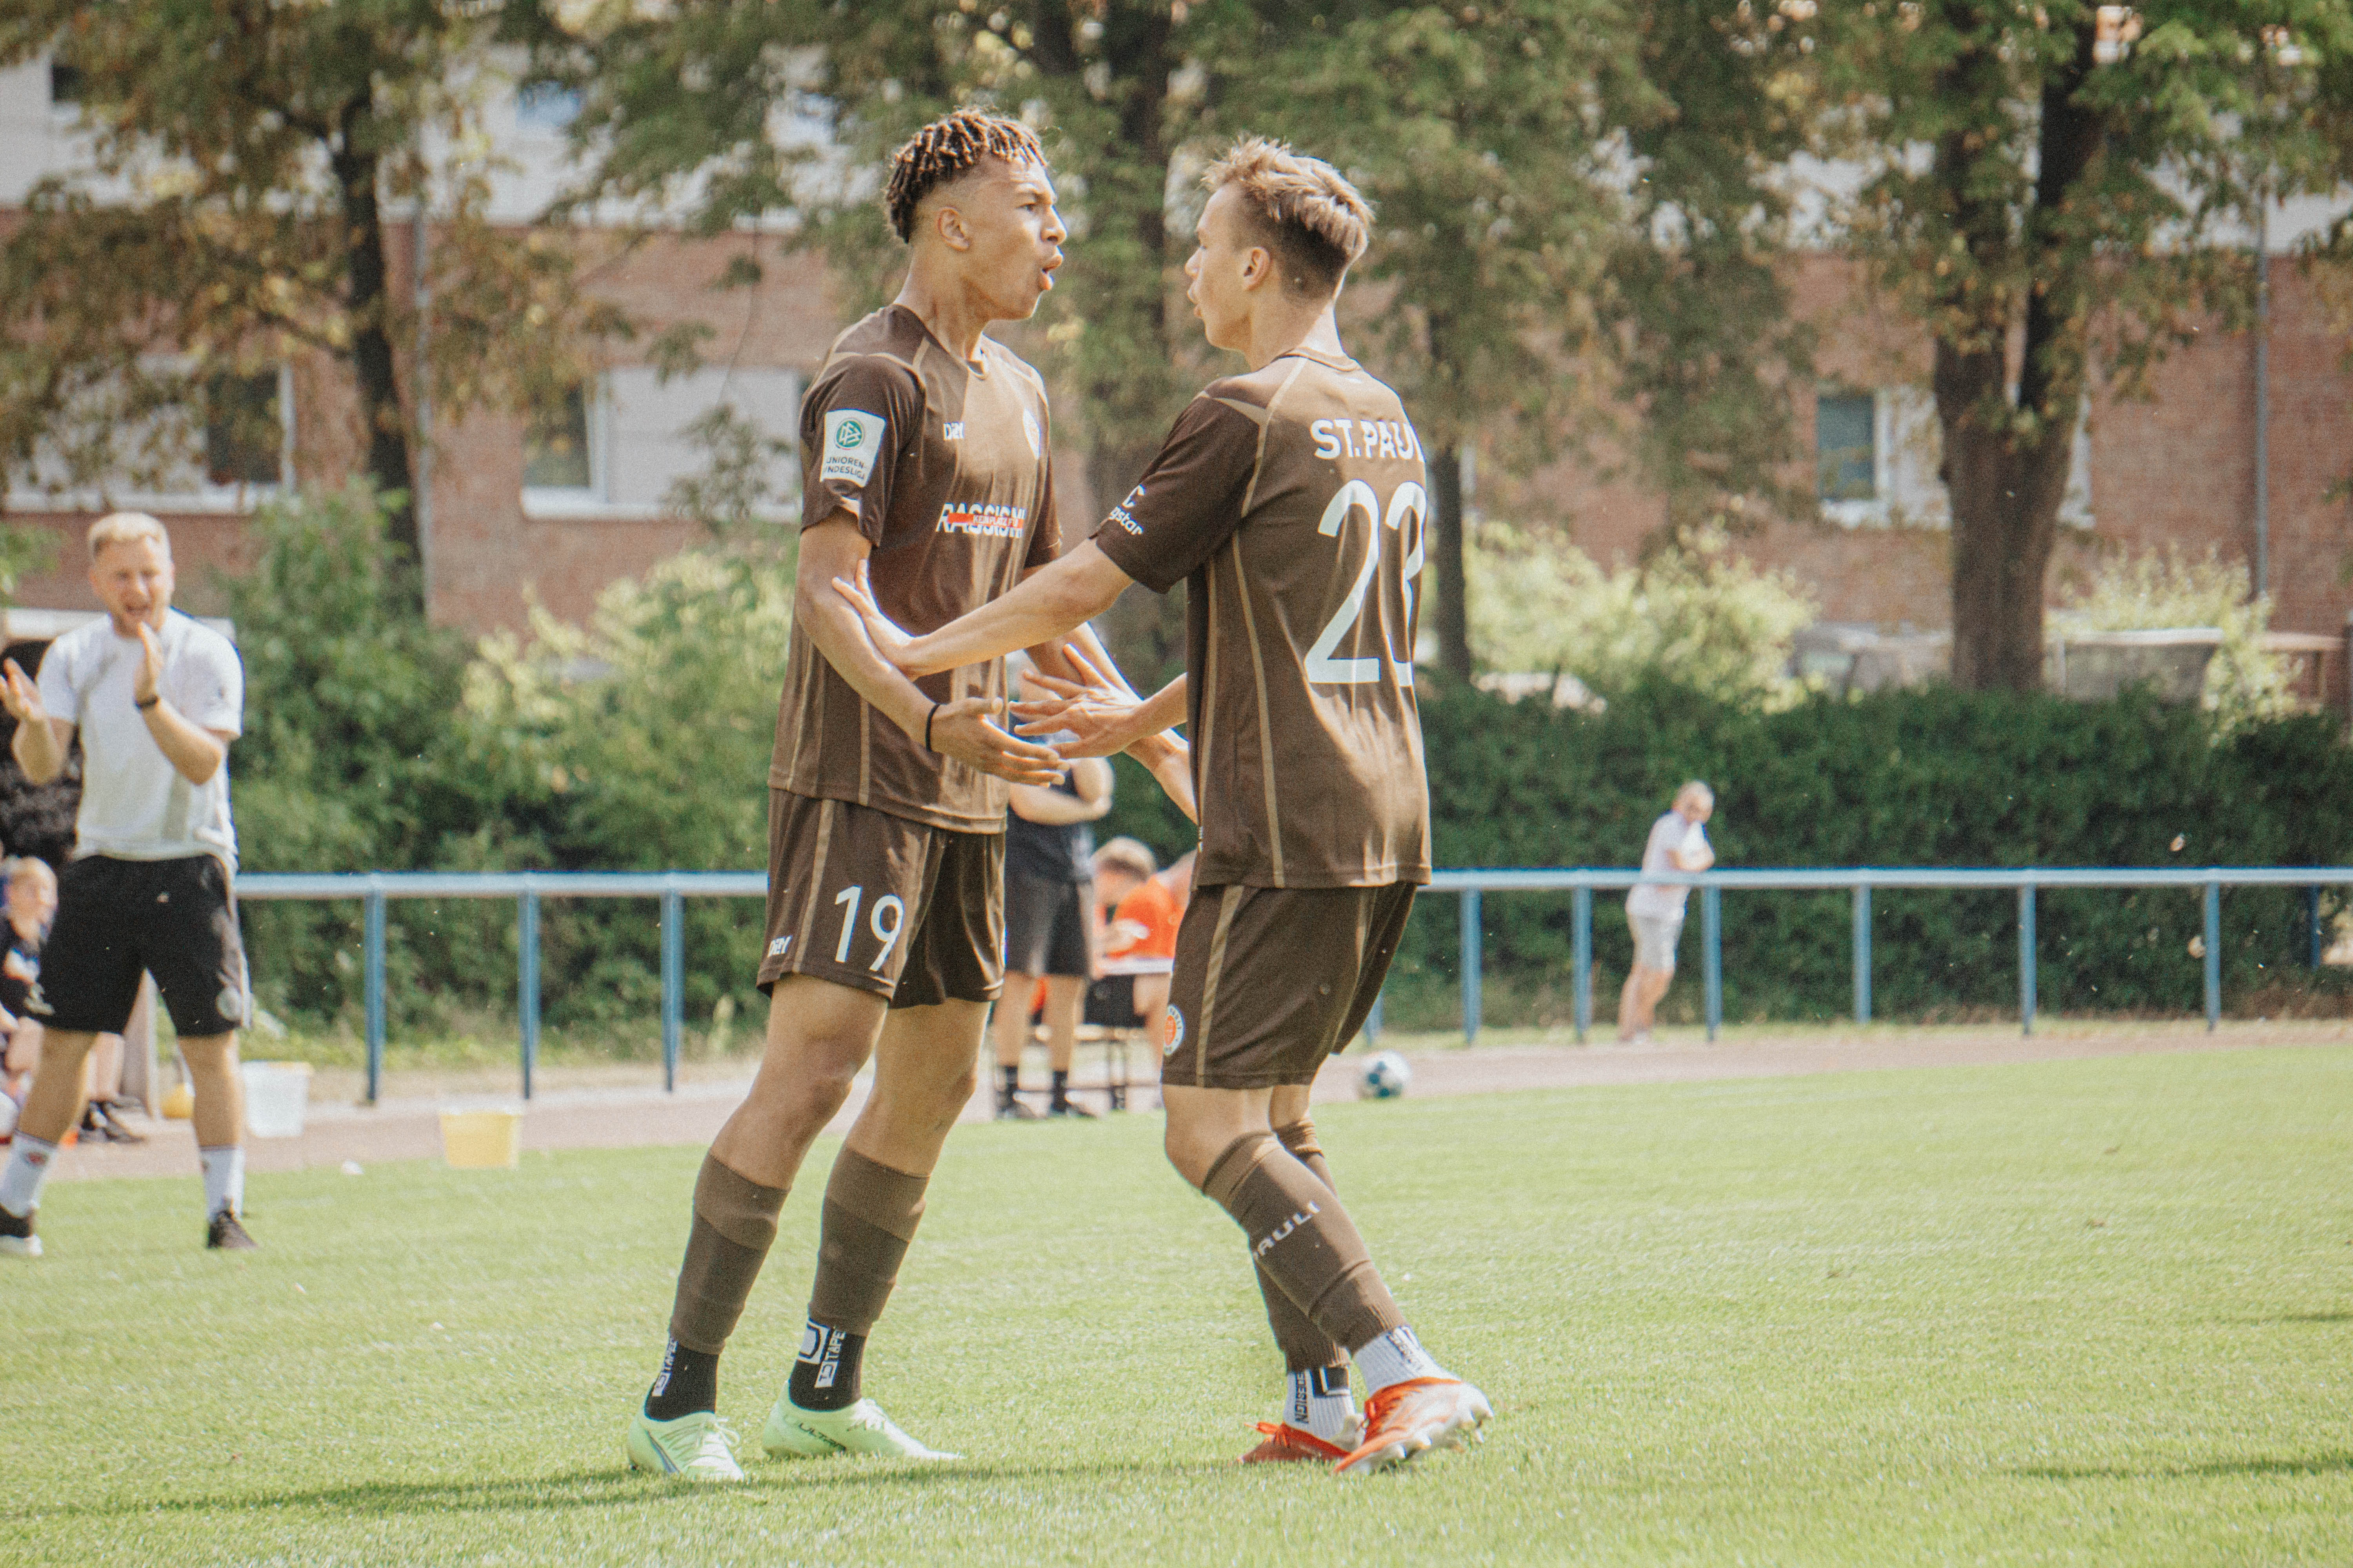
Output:
[[[14,661],[0,670],[26,778],[56,778],[82,733],[73,863],[26,1001],[45,1039],[0,1171],[0,1253],[40,1258],[33,1213],[56,1143],[82,1112],[82,1060],[99,1034],[122,1032],[141,973],[172,1009],[195,1088],[205,1246],[249,1251],[238,1027],[252,999],[228,823],[245,668],[228,637],[172,609],[172,541],[146,512],[89,527],[89,585],[106,618],[52,642],[38,686]]]

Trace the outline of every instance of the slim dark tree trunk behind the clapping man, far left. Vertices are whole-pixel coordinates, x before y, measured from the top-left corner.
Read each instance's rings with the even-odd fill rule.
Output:
[[[376,207],[379,158],[365,139],[372,115],[374,106],[367,99],[346,106],[341,148],[332,158],[334,181],[344,200],[344,303],[351,313],[351,369],[367,435],[365,473],[386,496],[384,543],[393,552],[393,564],[405,567],[395,581],[407,583],[412,609],[421,614],[414,475],[409,473],[407,411],[400,407],[400,378],[388,329],[386,233]]]

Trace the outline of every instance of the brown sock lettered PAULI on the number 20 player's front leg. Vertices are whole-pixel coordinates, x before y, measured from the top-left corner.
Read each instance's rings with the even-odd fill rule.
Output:
[[[1233,1215],[1257,1265],[1329,1342],[1365,1345],[1405,1326],[1339,1194],[1273,1133],[1235,1138],[1200,1190]]]

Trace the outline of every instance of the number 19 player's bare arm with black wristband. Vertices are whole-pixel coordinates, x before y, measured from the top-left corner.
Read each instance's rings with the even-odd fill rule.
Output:
[[[918,745],[929,741],[934,752],[1012,783],[1042,785],[1061,778],[1061,752],[991,724],[991,715],[1005,710],[1002,701],[967,696],[934,710],[932,698],[882,656],[852,602],[828,588],[861,574],[871,548],[847,512],[800,534],[793,614],[826,663]]]

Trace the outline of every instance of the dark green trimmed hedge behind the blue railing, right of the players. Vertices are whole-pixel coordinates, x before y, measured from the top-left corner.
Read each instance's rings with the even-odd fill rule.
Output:
[[[2141,696],[2068,703],[1951,686],[1817,698],[1786,712],[1642,686],[1598,717],[1442,689],[1421,715],[1435,853],[1449,867],[1633,865],[1685,778],[1715,785],[1708,837],[1725,867],[2353,860],[2353,750],[2329,717],[2217,738],[2200,712]],[[1122,778],[1111,825],[1162,851],[1191,832],[1141,771]],[[1852,1006],[1849,898],[1725,893],[1727,1018],[1842,1016]],[[1600,1018],[1614,1013],[1614,983],[1631,961],[1619,903],[1595,900]],[[1489,893],[1482,914],[1489,1018],[1565,1018],[1569,896]],[[1687,961],[1697,924],[1694,907]],[[2052,1011],[2198,1011],[2202,966],[2188,943],[2200,929],[2195,889],[2042,891],[2040,1001]],[[1398,961],[1393,1020],[1452,1023],[1457,945],[1457,900],[1431,896]],[[2306,952],[2301,891],[2224,893],[2226,994],[2294,983]],[[1873,893],[1880,1016],[2014,1001],[2014,893]]]

